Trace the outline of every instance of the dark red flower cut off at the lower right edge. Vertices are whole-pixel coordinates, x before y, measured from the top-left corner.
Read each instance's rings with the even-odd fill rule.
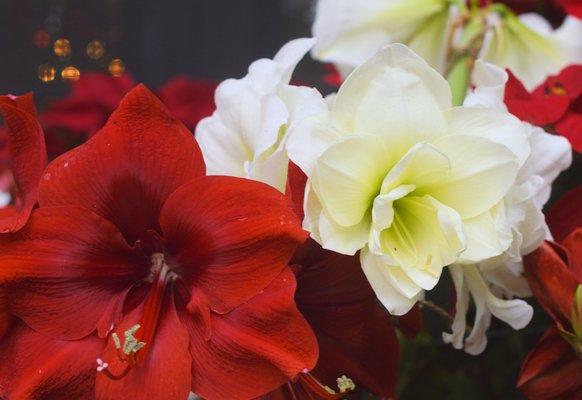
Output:
[[[545,243],[524,258],[524,265],[536,299],[555,326],[528,355],[518,387],[530,400],[579,399],[582,393],[582,228],[571,233],[561,246]]]

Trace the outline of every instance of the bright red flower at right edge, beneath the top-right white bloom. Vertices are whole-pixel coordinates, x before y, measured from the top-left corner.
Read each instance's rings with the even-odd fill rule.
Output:
[[[582,65],[566,67],[532,93],[509,72],[505,104],[521,120],[554,130],[582,152]]]

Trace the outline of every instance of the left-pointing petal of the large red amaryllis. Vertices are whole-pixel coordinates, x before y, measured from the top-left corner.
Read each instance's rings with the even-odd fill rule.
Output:
[[[10,311],[60,339],[109,329],[127,290],[149,273],[115,226],[78,207],[35,210],[19,232],[0,235],[0,249]]]

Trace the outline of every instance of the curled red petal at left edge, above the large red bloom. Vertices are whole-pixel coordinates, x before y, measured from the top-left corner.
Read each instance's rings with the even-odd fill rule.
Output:
[[[10,164],[16,198],[0,209],[0,232],[22,228],[38,197],[38,184],[46,166],[44,134],[34,109],[32,94],[0,96],[0,111],[7,126]]]

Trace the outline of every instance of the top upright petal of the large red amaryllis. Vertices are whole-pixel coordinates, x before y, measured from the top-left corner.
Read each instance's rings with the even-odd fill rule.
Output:
[[[176,188],[204,174],[192,133],[138,86],[103,130],[47,167],[39,202],[95,211],[133,243],[159,228],[159,212]]]

